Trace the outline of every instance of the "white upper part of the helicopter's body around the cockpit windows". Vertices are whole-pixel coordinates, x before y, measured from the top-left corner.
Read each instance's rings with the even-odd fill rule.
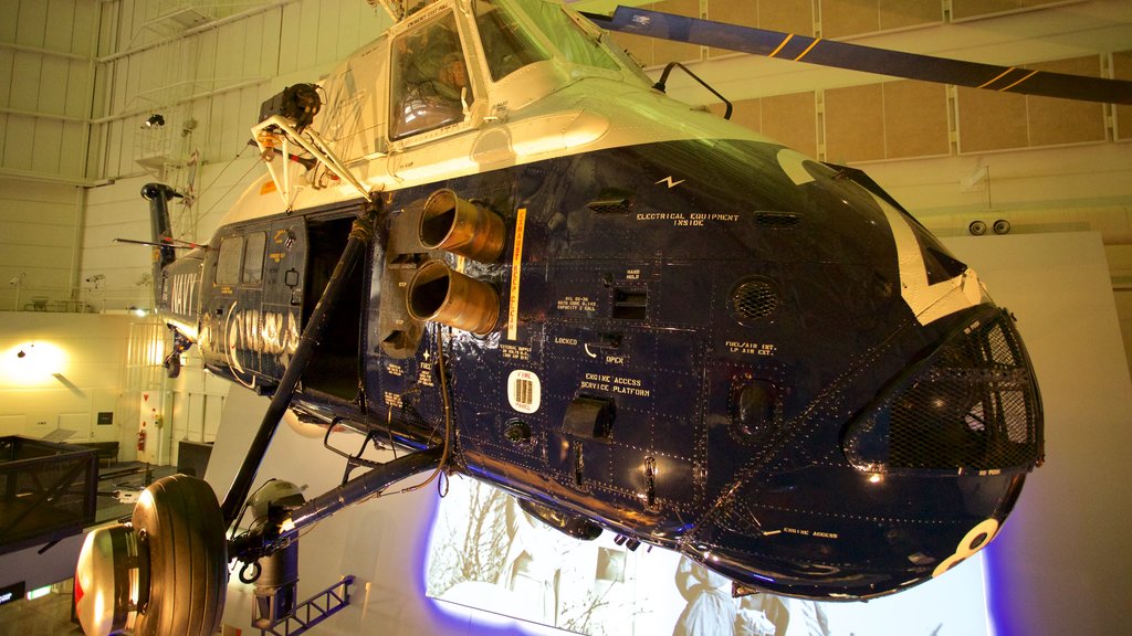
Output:
[[[474,5],[474,6],[473,6]],[[535,7],[535,9],[531,9]],[[541,19],[531,19],[530,14]],[[484,14],[506,16],[542,57],[499,75],[487,59]],[[398,44],[439,23],[458,29],[468,93],[460,121],[396,137]],[[488,41],[487,45],[484,41]],[[311,127],[369,191],[393,191],[555,156],[642,143],[693,138],[764,140],[717,115],[667,97],[600,31],[559,5],[542,0],[437,0],[389,28],[343,62],[319,86],[324,105]],[[563,42],[567,42],[563,44]],[[400,44],[404,49],[404,44]],[[564,49],[588,46],[578,54]],[[600,58],[602,66],[581,63]],[[359,198],[325,170],[285,162],[289,192],[264,177],[243,194],[223,224],[282,209],[307,209]]]

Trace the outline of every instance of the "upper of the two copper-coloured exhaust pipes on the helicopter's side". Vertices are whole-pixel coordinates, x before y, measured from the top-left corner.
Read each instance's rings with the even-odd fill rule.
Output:
[[[421,244],[443,249],[479,263],[495,263],[503,253],[507,227],[498,214],[465,201],[445,188],[424,203],[418,227]]]

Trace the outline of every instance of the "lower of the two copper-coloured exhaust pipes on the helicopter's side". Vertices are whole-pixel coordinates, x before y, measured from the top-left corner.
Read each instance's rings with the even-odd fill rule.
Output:
[[[440,260],[417,270],[408,290],[409,315],[474,334],[488,334],[499,320],[499,294],[495,287],[454,272]]]

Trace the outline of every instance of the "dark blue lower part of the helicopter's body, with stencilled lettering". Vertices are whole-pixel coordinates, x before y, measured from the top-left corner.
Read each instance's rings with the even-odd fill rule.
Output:
[[[455,470],[779,593],[868,598],[945,570],[993,536],[1040,459],[1029,362],[989,302],[921,324],[886,196],[783,153],[670,141],[387,194],[352,318],[297,407],[437,444],[439,358]],[[417,239],[441,187],[503,217],[494,263]],[[258,287],[216,284],[220,250],[205,258],[213,371],[271,390],[353,210],[218,234],[264,232],[268,257]],[[962,275],[900,215],[928,282]],[[429,260],[497,291],[490,333],[405,313]]]

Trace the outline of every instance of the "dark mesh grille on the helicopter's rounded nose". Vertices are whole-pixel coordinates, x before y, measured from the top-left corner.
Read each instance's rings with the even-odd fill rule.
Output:
[[[842,448],[863,470],[993,471],[1041,461],[1041,404],[1004,311],[943,345],[849,426]]]

